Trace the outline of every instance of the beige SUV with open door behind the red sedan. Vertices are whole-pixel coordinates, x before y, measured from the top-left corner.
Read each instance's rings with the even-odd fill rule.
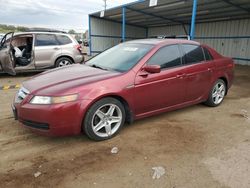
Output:
[[[7,33],[0,43],[0,71],[11,75],[83,61],[81,45],[64,32],[12,32]]]

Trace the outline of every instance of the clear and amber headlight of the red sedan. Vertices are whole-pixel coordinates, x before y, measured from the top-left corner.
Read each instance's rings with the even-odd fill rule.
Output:
[[[75,101],[77,99],[77,94],[67,95],[60,97],[49,97],[49,96],[34,96],[30,103],[31,104],[59,104],[65,102]]]

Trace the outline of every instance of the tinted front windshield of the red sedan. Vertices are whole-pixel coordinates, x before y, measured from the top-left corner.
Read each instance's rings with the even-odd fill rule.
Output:
[[[122,43],[93,57],[86,62],[86,65],[126,72],[133,68],[152,48],[153,45],[148,44]]]

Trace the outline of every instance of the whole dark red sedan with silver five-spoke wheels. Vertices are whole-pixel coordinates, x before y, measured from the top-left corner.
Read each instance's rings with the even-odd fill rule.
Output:
[[[145,39],[23,83],[12,108],[25,127],[45,135],[115,136],[125,122],[205,103],[218,106],[234,63],[194,41]]]

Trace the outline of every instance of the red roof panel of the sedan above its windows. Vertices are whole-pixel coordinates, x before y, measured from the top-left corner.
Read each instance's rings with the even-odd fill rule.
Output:
[[[139,43],[139,44],[151,44],[151,45],[168,45],[168,44],[194,44],[200,45],[200,43],[192,40],[184,39],[139,39],[128,41],[127,43]]]

